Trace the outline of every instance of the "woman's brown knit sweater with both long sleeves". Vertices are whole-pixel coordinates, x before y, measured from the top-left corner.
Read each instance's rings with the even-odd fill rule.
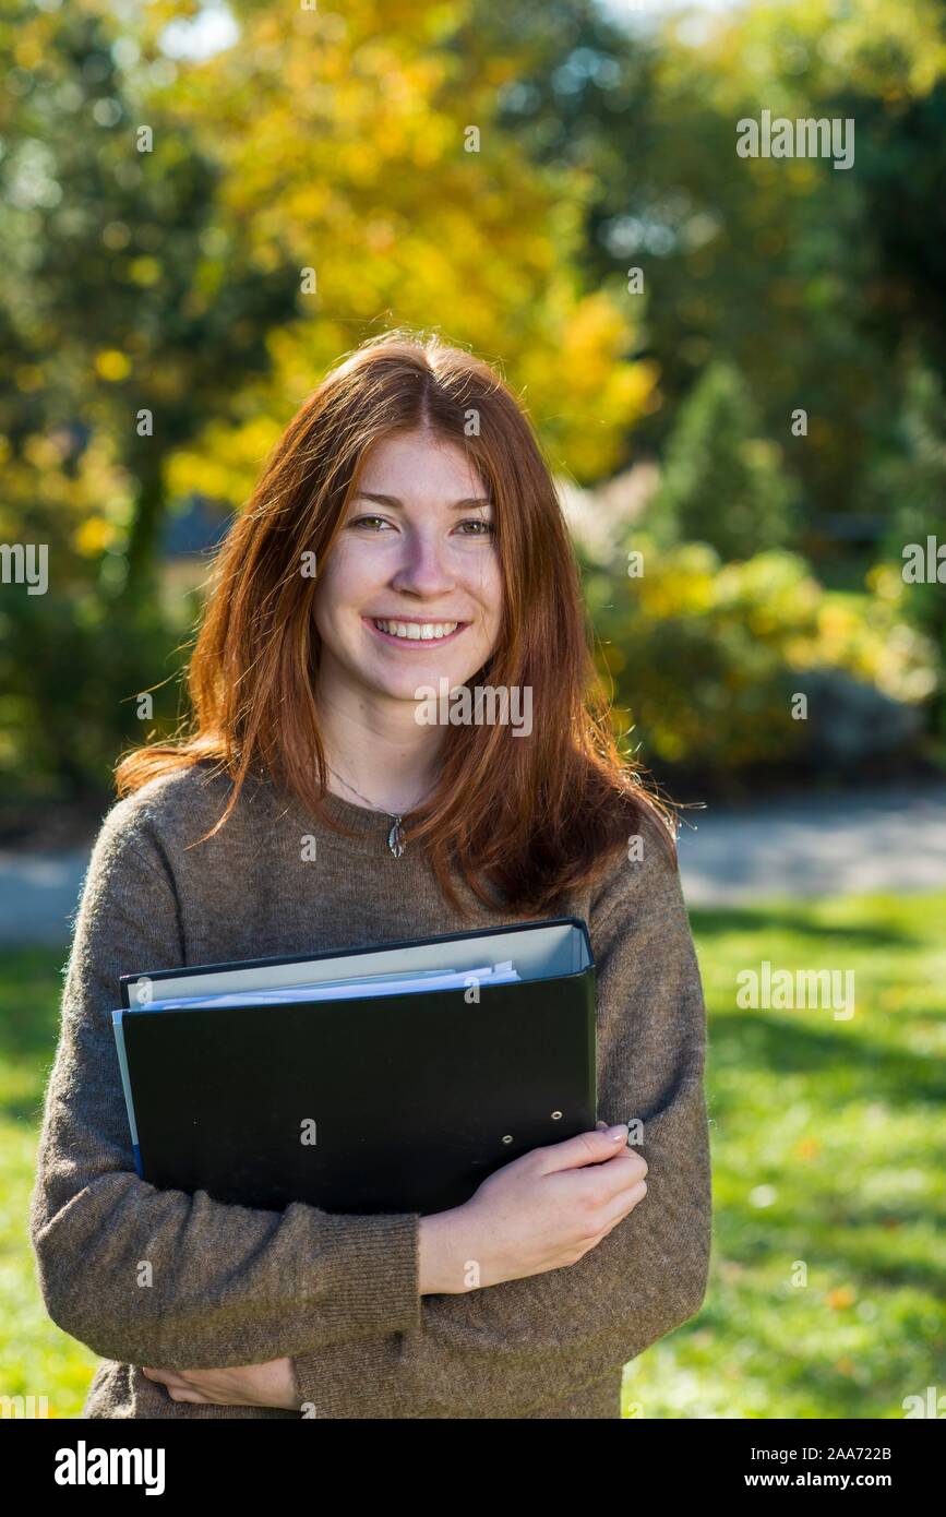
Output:
[[[576,1264],[418,1294],[418,1223],[285,1212],[138,1179],[111,1013],[129,971],[350,948],[535,913],[449,910],[420,845],[327,798],[353,839],[270,784],[180,771],[105,819],[77,913],[30,1238],[52,1318],[103,1358],[85,1417],[619,1417],[622,1367],[699,1309],[710,1264],[705,1010],[676,871],[652,824],[561,915],[597,962],[599,1117],[644,1123],[647,1195]],[[315,837],[315,857],[311,843]],[[556,915],[559,915],[556,912]],[[153,1283],[139,1283],[150,1261]],[[293,1358],[300,1411],[173,1402],[141,1365]],[[685,1408],[681,1408],[685,1414]]]

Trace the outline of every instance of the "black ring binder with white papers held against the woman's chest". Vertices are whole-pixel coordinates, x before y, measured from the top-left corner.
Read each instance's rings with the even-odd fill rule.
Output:
[[[161,1007],[512,960],[520,978],[358,1000]],[[302,992],[300,992],[302,994]],[[115,1041],[143,1179],[282,1211],[431,1212],[531,1148],[594,1127],[596,998],[572,916],[344,953],[121,977]]]

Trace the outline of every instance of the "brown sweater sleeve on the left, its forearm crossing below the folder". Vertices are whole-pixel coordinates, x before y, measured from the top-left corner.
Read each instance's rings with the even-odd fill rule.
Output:
[[[161,842],[120,802],[82,890],[30,1198],[50,1317],[106,1359],[165,1370],[417,1326],[418,1215],[258,1211],[138,1177],[112,1032],[118,975],[183,962]]]

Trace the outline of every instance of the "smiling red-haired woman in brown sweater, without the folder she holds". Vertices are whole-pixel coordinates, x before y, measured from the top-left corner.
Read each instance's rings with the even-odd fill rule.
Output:
[[[619,1417],[622,1367],[703,1299],[705,1012],[672,833],[588,705],[532,431],[470,355],[370,341],[293,419],[217,570],[194,728],[118,771],[47,1091],[32,1239],[52,1317],[106,1361],[85,1415]],[[418,719],[459,687],[520,716],[528,695],[528,730]],[[614,1127],[431,1217],[138,1179],[120,974],[549,915],[590,925]]]

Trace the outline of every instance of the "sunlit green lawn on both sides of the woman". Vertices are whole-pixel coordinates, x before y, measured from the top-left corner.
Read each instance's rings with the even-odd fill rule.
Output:
[[[946,892],[694,912],[713,1267],[699,1317],[628,1368],[628,1415],[902,1417],[946,1390],[943,922]],[[738,1010],[763,959],[854,969],[855,1015]],[[0,1393],[74,1417],[97,1361],[47,1318],[26,1236],[62,960],[0,953]]]

